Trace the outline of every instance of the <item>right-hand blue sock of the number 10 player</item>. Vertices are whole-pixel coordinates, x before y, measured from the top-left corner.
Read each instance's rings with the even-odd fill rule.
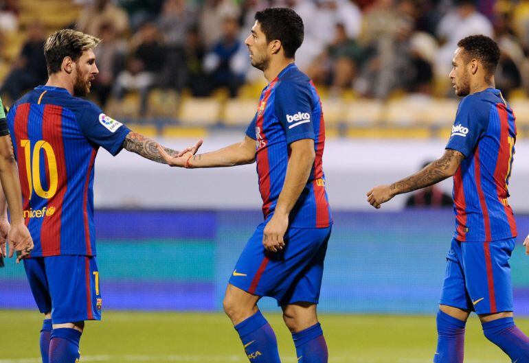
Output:
[[[71,328],[52,330],[49,341],[49,363],[79,362],[79,340],[81,332]]]

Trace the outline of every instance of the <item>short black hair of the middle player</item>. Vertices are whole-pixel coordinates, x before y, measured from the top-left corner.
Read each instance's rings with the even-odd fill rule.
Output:
[[[294,58],[295,51],[303,43],[303,21],[289,8],[267,8],[256,12],[256,21],[261,25],[267,43],[280,40],[286,58]]]

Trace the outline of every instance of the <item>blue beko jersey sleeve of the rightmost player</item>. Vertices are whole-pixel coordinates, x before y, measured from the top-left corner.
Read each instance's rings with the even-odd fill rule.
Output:
[[[490,107],[480,99],[465,97],[455,115],[446,149],[461,152],[467,158],[471,156],[488,128],[489,111]]]

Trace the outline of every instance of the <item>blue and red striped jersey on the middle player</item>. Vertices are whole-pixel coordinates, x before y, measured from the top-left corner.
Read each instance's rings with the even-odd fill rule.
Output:
[[[319,95],[311,82],[294,64],[287,66],[262,91],[259,106],[246,134],[256,140],[257,174],[264,219],[271,218],[278,202],[289,145],[313,139],[316,158],[307,183],[290,215],[290,226],[324,228],[333,223],[322,156],[325,123]]]

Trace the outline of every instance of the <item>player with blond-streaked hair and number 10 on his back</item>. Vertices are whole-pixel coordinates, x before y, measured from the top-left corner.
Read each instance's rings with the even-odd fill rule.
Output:
[[[49,78],[8,113],[19,161],[25,222],[34,250],[24,267],[44,314],[43,363],[74,363],[85,320],[100,320],[102,297],[95,261],[93,165],[100,147],[122,148],[164,163],[157,143],[79,98],[98,74],[98,38],[60,30],[45,42]],[[196,145],[197,148],[199,144]],[[166,149],[175,155],[175,150]]]

